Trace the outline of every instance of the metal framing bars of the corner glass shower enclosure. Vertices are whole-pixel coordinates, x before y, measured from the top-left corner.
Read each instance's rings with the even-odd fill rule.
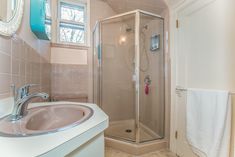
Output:
[[[99,78],[99,84],[98,84],[98,89],[99,89],[99,93],[98,93],[98,97],[99,97],[99,106],[102,108],[102,80],[100,79],[102,77],[102,38],[101,38],[101,23],[102,22],[105,22],[105,21],[108,21],[108,20],[112,20],[112,19],[116,19],[116,18],[120,18],[120,17],[123,17],[123,16],[127,16],[127,15],[135,15],[135,75],[137,76],[136,77],[136,81],[135,81],[135,129],[136,129],[136,140],[135,140],[135,143],[139,144],[139,143],[142,143],[140,141],[140,15],[141,14],[144,14],[144,15],[148,15],[148,16],[152,16],[152,17],[155,17],[155,18],[159,18],[161,20],[163,20],[163,69],[164,69],[164,79],[163,79],[163,95],[164,95],[164,100],[163,100],[163,104],[164,104],[164,118],[163,118],[163,121],[164,121],[164,130],[165,130],[165,88],[166,88],[166,85],[165,85],[165,78],[166,78],[166,65],[165,65],[165,43],[164,43],[164,18],[162,18],[160,15],[157,15],[157,14],[154,14],[154,13],[150,13],[150,12],[147,12],[147,11],[143,11],[143,10],[134,10],[134,11],[130,11],[130,12],[126,12],[126,13],[122,13],[122,14],[118,14],[118,15],[115,15],[115,16],[112,16],[112,17],[109,17],[109,18],[105,18],[103,20],[100,20],[100,21],[97,21],[96,22],[96,25],[94,26],[94,29],[93,29],[93,37],[95,35],[95,31],[98,29],[99,30],[99,47],[98,47],[98,51],[100,51],[100,60],[99,60],[99,70],[98,70],[98,78]],[[95,39],[93,38],[93,44],[95,42]],[[95,50],[95,46],[93,45],[93,49],[92,49],[92,52],[94,52]],[[93,57],[93,61],[92,61],[92,64],[93,64],[93,87],[94,87],[94,57]],[[94,90],[93,90],[93,101],[94,101]],[[164,137],[163,138],[160,138],[160,139],[157,139],[157,140],[161,140],[161,139],[164,139],[165,138],[165,131],[164,131]],[[118,138],[118,140],[120,141],[124,141],[124,142],[130,142],[130,141],[127,141],[127,140],[124,140],[122,138]],[[155,140],[151,140],[151,141],[155,141]],[[150,141],[144,141],[144,142],[150,142]]]

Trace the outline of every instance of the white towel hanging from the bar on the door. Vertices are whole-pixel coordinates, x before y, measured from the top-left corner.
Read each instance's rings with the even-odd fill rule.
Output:
[[[199,157],[229,157],[231,98],[228,91],[189,89],[186,134]]]

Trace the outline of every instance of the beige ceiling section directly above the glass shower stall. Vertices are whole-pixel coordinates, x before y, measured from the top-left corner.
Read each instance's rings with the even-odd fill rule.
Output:
[[[167,8],[165,0],[103,0],[103,1],[107,2],[117,13],[123,13],[135,9],[141,9],[155,14],[161,14]]]

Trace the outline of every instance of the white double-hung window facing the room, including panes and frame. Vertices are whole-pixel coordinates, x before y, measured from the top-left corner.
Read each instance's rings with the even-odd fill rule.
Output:
[[[59,5],[57,41],[86,44],[86,7],[82,3],[61,0]]]

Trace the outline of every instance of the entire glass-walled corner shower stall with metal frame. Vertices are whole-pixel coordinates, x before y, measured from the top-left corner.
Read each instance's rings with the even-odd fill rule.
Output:
[[[164,19],[135,10],[97,22],[93,100],[109,116],[105,136],[143,143],[164,138]]]

